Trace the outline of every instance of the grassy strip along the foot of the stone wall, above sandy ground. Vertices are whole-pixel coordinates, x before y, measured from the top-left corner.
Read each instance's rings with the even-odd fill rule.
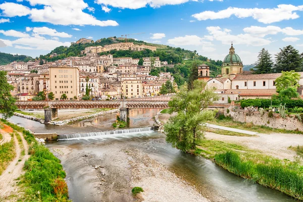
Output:
[[[270,128],[268,126],[254,125],[252,123],[236,122],[236,121],[233,121],[230,117],[226,117],[224,119],[215,119],[214,121],[210,121],[208,123],[216,124],[219,126],[226,126],[226,127],[230,127],[230,128],[249,130],[249,131],[254,131],[254,132],[258,132],[258,133],[265,133],[265,134],[271,134],[271,133],[303,134],[303,132],[296,131],[296,130],[274,129],[274,128]]]

